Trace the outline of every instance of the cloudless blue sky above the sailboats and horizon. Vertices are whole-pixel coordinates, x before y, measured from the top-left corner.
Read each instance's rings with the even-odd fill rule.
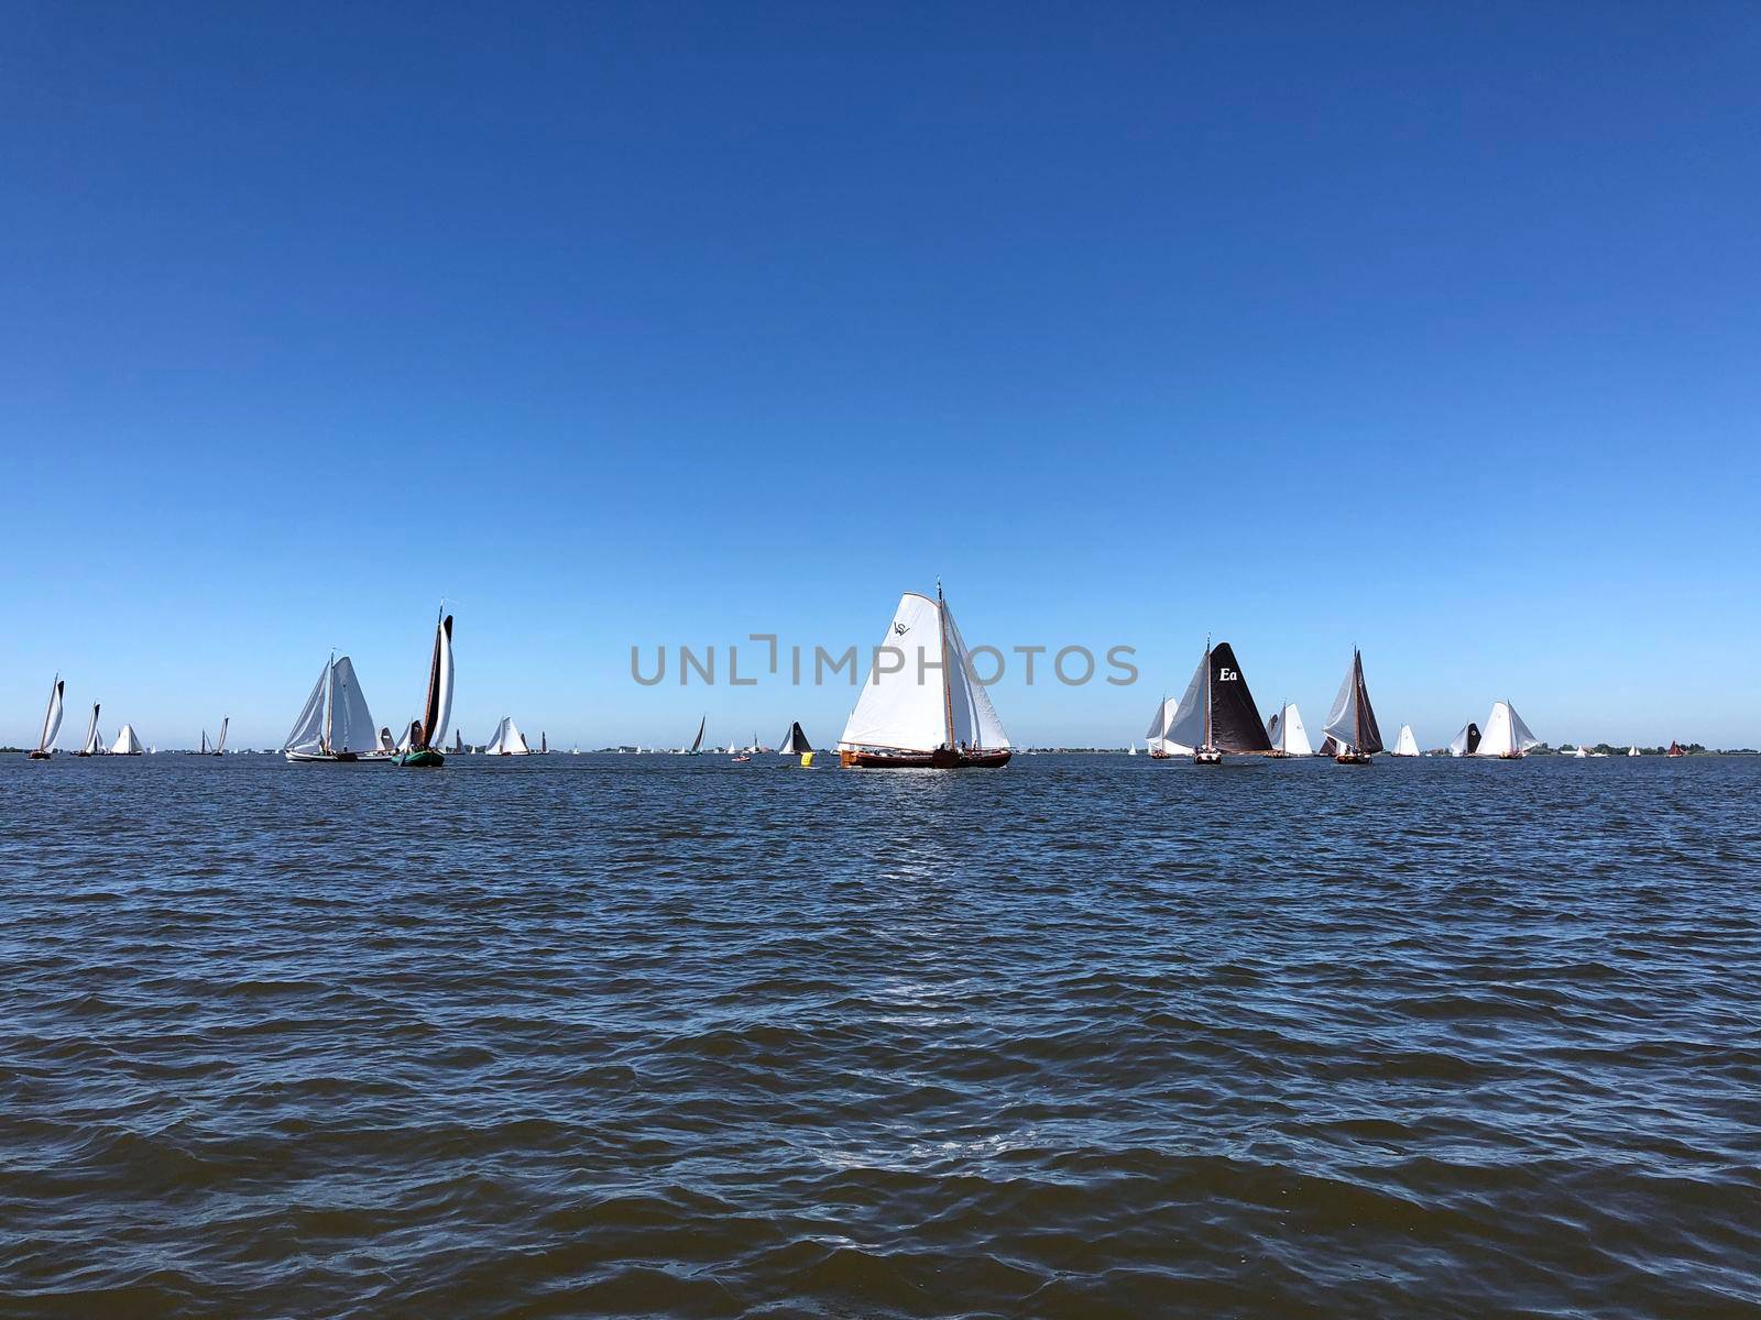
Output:
[[[1761,743],[1754,5],[5,5],[0,739],[842,729],[632,642],[1205,635]]]

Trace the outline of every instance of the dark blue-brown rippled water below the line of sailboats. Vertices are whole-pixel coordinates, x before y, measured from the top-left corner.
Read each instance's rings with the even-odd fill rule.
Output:
[[[0,764],[5,1315],[1761,1315],[1761,762]]]

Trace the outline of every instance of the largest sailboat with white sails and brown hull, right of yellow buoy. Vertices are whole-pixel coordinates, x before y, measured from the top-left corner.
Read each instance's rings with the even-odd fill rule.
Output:
[[[882,655],[896,656],[900,667],[882,672]],[[990,693],[972,676],[972,655],[940,583],[935,600],[902,595],[844,725],[838,762],[866,769],[995,767],[1007,766],[1011,752]]]

